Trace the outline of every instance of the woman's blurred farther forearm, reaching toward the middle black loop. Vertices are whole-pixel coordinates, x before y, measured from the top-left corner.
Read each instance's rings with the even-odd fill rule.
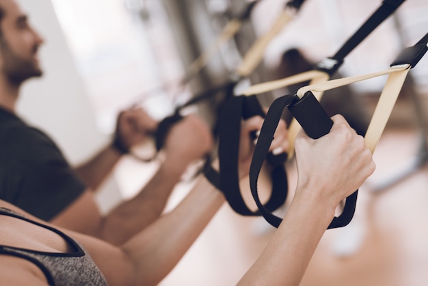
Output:
[[[122,249],[135,265],[135,285],[157,285],[180,261],[224,203],[204,177],[170,213],[126,242]]]

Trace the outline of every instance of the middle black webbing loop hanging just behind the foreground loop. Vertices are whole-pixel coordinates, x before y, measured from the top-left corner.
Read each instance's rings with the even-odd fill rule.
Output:
[[[238,160],[241,120],[252,116],[265,116],[256,96],[232,96],[226,100],[219,116],[219,173],[207,168],[206,178],[224,193],[230,207],[242,216],[260,216],[260,211],[252,211],[243,200],[239,186]],[[286,200],[286,156],[269,154],[271,164],[272,190],[269,200],[263,207],[274,211]],[[261,204],[261,203],[260,203]]]

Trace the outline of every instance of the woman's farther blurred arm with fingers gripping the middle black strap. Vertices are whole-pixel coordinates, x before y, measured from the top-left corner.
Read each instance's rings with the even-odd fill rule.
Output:
[[[254,151],[250,133],[259,130],[262,124],[263,118],[258,116],[243,122],[239,146],[239,174],[242,177],[248,175],[249,161]],[[286,126],[281,122],[270,151],[275,148],[284,150],[287,146],[284,138]],[[102,256],[105,252],[98,248],[98,244],[89,242],[86,248],[92,250],[91,256],[103,273],[107,273],[109,284],[157,285],[185,255],[224,201],[222,192],[201,176],[193,190],[175,209],[165,213],[120,247],[116,255],[126,265],[120,271],[116,266],[113,268],[111,259]],[[122,275],[118,275],[118,272]]]

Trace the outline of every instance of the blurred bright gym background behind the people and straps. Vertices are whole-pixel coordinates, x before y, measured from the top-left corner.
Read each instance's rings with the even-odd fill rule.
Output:
[[[144,107],[162,119],[198,92],[230,80],[232,70],[286,1],[263,0],[239,33],[191,83],[186,68],[247,3],[244,0],[20,0],[44,36],[44,77],[25,85],[18,112],[58,142],[78,164],[107,144],[121,109]],[[332,56],[382,1],[307,0],[265,50],[246,84],[284,77],[282,55],[298,49],[311,63]],[[339,73],[388,68],[403,47],[428,32],[428,2],[407,0],[346,58]],[[351,86],[371,114],[386,78]],[[287,90],[266,94],[269,106]],[[375,153],[377,170],[362,186],[356,218],[327,231],[302,285],[426,285],[428,274],[428,56],[410,72]],[[198,112],[212,118],[209,107]],[[120,161],[98,195],[108,211],[130,198],[157,168],[131,157]],[[291,185],[293,163],[289,168]],[[401,179],[403,175],[404,179]],[[397,182],[394,181],[397,179]],[[169,207],[189,190],[178,185]],[[161,285],[235,285],[274,229],[241,218],[225,205]],[[293,259],[284,257],[284,259]]]

